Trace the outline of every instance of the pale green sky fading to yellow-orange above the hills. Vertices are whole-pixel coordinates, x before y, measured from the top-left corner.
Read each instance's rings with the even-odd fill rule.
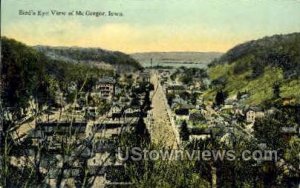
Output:
[[[48,16],[19,11],[49,12]],[[51,10],[105,12],[53,16]],[[123,16],[107,16],[108,11]],[[300,0],[4,0],[1,35],[28,45],[126,53],[226,52],[236,44],[300,32]]]

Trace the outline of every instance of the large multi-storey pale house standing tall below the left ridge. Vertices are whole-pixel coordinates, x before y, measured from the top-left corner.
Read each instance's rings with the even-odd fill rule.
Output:
[[[101,98],[112,99],[115,94],[116,81],[113,77],[103,77],[96,84],[96,92]]]

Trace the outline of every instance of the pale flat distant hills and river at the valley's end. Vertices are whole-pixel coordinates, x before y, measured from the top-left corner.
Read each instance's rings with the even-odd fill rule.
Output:
[[[131,57],[143,63],[201,63],[208,64],[215,58],[220,57],[219,52],[145,52],[130,54]]]

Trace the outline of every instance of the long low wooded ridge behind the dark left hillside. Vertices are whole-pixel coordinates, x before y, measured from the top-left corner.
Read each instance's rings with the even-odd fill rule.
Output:
[[[141,68],[141,65],[135,59],[118,51],[81,47],[35,46],[34,48],[43,52],[51,59],[63,60],[66,62],[92,63],[101,68],[111,67],[119,71],[131,71]]]

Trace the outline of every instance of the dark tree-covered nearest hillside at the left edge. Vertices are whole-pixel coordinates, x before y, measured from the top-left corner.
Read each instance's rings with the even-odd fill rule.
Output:
[[[100,76],[112,75],[112,71],[87,64],[52,60],[13,39],[2,37],[1,42],[2,104],[16,114],[28,107],[30,97],[40,104],[53,103],[59,91],[68,95],[68,88],[74,85],[88,91]]]

